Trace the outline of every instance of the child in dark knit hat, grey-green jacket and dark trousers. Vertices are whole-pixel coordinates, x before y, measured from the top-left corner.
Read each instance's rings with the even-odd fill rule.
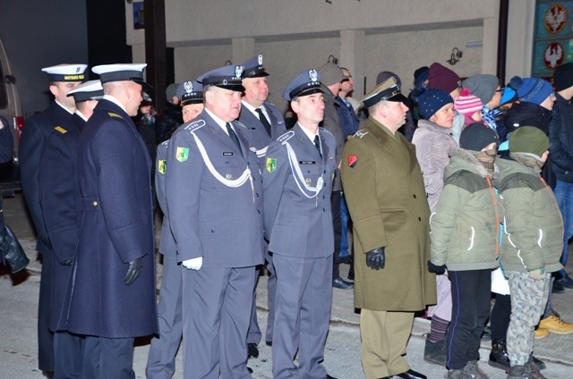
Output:
[[[449,150],[445,186],[431,218],[428,268],[436,273],[448,268],[451,282],[447,377],[487,378],[477,361],[497,265],[499,217],[492,178],[497,176],[498,136],[473,123],[462,131],[459,145]]]

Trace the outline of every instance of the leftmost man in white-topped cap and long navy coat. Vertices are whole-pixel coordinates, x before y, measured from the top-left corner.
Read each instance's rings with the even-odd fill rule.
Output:
[[[54,334],[49,331],[50,288],[52,252],[47,237],[42,209],[39,205],[38,167],[39,157],[47,136],[54,127],[67,122],[75,112],[73,97],[67,92],[84,80],[86,64],[58,64],[43,68],[50,82],[49,90],[54,101],[47,109],[24,122],[21,131],[18,160],[20,162],[21,189],[38,235],[36,248],[42,255],[42,274],[38,301],[38,368],[49,373],[54,371]],[[44,267],[49,267],[45,270]]]

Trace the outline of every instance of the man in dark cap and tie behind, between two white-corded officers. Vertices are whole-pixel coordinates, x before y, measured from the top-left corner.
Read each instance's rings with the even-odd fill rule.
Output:
[[[277,139],[286,132],[283,115],[276,105],[267,101],[267,97],[269,97],[269,86],[267,85],[269,73],[262,65],[263,60],[262,55],[257,55],[243,63],[244,92],[242,99],[243,105],[241,106],[241,114],[239,115],[239,121],[252,132],[254,147],[257,148],[257,156],[259,156],[261,166],[264,165],[265,154],[270,141]],[[268,282],[269,315],[265,341],[267,344],[270,344],[272,342],[277,275],[275,274],[275,269],[272,267],[272,257],[269,255],[268,248],[265,249],[265,258],[267,260],[267,269],[270,273]],[[255,273],[257,279],[260,273],[261,270],[257,269]],[[253,291],[253,297],[251,325],[249,326],[249,333],[247,334],[247,349],[249,357],[257,358],[259,357],[257,345],[261,342],[261,329],[259,328],[259,322],[257,320],[256,285],[255,291]]]

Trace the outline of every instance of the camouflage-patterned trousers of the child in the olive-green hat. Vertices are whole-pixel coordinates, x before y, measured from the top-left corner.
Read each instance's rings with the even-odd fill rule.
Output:
[[[511,366],[523,366],[534,350],[535,325],[543,315],[549,296],[551,274],[536,281],[529,273],[506,271],[511,295],[511,320],[507,347]]]

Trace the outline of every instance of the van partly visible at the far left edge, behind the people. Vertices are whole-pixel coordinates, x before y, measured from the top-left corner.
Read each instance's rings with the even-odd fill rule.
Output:
[[[10,125],[14,139],[13,161],[0,164],[0,195],[13,195],[20,189],[20,171],[18,169],[18,141],[24,126],[24,115],[20,95],[16,87],[16,78],[12,74],[10,63],[0,38],[0,116]]]

